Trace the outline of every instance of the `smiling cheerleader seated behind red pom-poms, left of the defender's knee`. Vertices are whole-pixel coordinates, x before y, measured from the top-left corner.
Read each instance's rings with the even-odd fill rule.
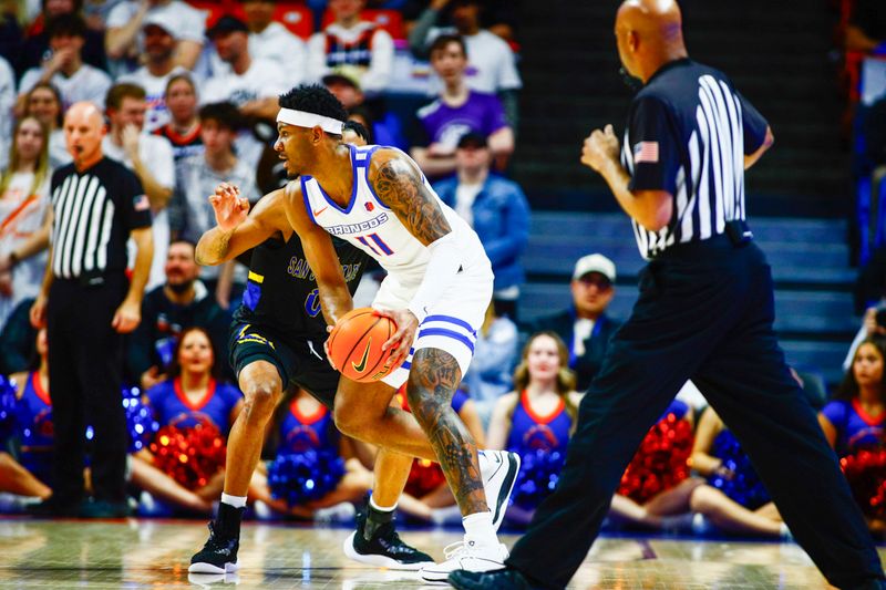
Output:
[[[184,330],[173,354],[172,379],[147,391],[145,403],[163,426],[181,429],[214,427],[227,437],[230,426],[243,408],[243,394],[233,385],[217,381],[217,355],[209,334],[203,328]],[[155,441],[156,443],[156,441]],[[208,482],[188,489],[169,474],[158,469],[151,451],[143,449],[132,462],[132,483],[187,511],[210,514],[212,501],[222,494],[225,472],[209,474]],[[143,499],[150,500],[151,497]],[[148,509],[150,511],[150,509]]]

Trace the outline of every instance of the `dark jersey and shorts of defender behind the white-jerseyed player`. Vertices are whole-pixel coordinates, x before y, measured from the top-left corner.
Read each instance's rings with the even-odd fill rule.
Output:
[[[333,238],[351,294],[357,291],[367,255]],[[229,351],[237,375],[255,361],[277,368],[290,382],[332,408],[339,373],[326,360],[326,320],[317,280],[305,258],[301,240],[271,238],[253,250],[243,304],[234,313]]]

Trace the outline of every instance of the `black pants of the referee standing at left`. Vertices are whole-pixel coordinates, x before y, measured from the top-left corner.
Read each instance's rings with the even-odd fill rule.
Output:
[[[92,425],[92,486],[99,500],[125,499],[126,416],[121,396],[122,337],[111,322],[126,289],[123,275],[101,286],[55,279],[47,308],[49,381],[55,428],[53,497],[83,497],[85,429]]]

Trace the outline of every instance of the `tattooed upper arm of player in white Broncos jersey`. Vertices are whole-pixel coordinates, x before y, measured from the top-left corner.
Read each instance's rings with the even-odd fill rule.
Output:
[[[380,151],[373,157],[369,182],[381,201],[425,246],[452,231],[419,169],[398,152]]]

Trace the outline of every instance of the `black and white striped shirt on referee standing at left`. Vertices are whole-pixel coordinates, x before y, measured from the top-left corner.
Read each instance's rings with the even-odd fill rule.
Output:
[[[106,157],[83,172],[55,170],[52,210],[52,272],[61,279],[123,272],[130,232],[151,226],[138,178]]]

